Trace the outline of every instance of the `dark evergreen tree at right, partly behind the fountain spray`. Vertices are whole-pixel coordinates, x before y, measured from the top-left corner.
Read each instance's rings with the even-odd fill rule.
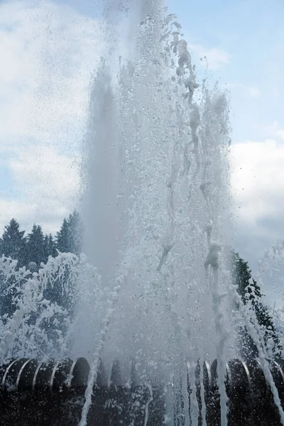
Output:
[[[241,300],[244,305],[251,305],[251,308],[256,315],[258,325],[265,330],[264,344],[267,344],[269,337],[273,337],[275,350],[279,349],[279,342],[275,334],[273,319],[269,315],[268,308],[261,301],[263,294],[261,288],[251,277],[251,270],[248,262],[245,262],[239,256],[239,253],[231,251],[231,278],[234,285],[237,286],[237,291],[241,295]],[[245,358],[257,356],[258,350],[253,343],[251,336],[246,328],[241,329],[241,352]]]

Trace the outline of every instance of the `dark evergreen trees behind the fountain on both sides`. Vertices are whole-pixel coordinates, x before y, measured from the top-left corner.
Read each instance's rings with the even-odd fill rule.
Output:
[[[55,236],[44,234],[42,227],[38,224],[34,224],[31,233],[26,235],[26,231],[20,229],[20,224],[16,219],[11,219],[9,224],[5,226],[4,233],[0,239],[0,256],[4,255],[18,261],[18,267],[26,266],[28,268],[28,265],[34,262],[39,268],[40,263],[48,261],[48,256],[56,257],[58,251],[61,253],[74,253],[80,256],[80,253],[82,253],[82,234],[82,220],[77,211],[72,212],[67,219],[63,220],[60,230]],[[272,338],[274,351],[280,351],[273,318],[269,313],[268,307],[263,303],[261,288],[256,283],[256,280],[252,279],[248,262],[244,261],[239,256],[239,253],[234,250],[231,250],[231,283],[236,285],[237,292],[241,296],[244,305],[249,305],[251,310],[253,310],[256,322],[264,332],[265,344],[267,344],[269,338]],[[6,299],[5,292],[3,292],[4,283],[1,284],[0,302],[2,303],[0,305],[5,305],[5,310],[7,310],[8,305],[12,303],[12,297],[10,295],[9,299]],[[58,305],[67,307],[67,300],[61,300],[62,292],[60,289],[50,288],[49,290],[47,289],[47,292],[50,300],[57,302]],[[5,302],[4,299],[6,299]],[[8,311],[11,312],[13,309],[8,309]],[[239,337],[242,356],[244,358],[257,356],[258,349],[246,327],[240,330]]]

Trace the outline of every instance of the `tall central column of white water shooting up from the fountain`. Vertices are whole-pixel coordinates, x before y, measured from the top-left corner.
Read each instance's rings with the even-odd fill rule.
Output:
[[[91,95],[85,249],[109,293],[126,277],[99,355],[135,359],[145,379],[217,356],[222,388],[225,322],[234,328],[219,275],[230,226],[228,104],[217,85],[197,84],[176,16],[146,6],[133,13],[135,48],[117,76],[114,56],[102,60]]]

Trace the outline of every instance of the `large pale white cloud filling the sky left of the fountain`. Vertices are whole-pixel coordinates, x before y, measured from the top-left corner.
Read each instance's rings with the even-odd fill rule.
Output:
[[[99,23],[67,6],[0,5],[0,168],[9,168],[17,192],[4,197],[7,175],[0,233],[11,217],[55,232],[75,207],[89,82],[102,48]]]

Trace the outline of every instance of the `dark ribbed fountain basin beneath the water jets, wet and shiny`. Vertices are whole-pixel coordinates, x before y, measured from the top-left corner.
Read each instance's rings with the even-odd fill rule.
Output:
[[[284,361],[270,361],[271,373],[281,404],[284,405]],[[217,385],[217,361],[204,362],[195,369],[195,383],[187,376],[187,396],[175,391],[172,418],[165,422],[165,401],[169,397],[168,383],[138,383],[131,368],[128,383],[121,379],[119,361],[115,361],[110,375],[100,363],[97,383],[94,386],[88,426],[182,426],[220,425],[220,404]],[[38,361],[12,359],[0,367],[1,426],[77,426],[84,405],[89,364],[84,358],[72,361]],[[203,381],[201,381],[203,377]],[[203,384],[203,386],[202,386]],[[192,418],[192,391],[198,419]],[[204,390],[204,391],[203,391]],[[204,394],[202,395],[202,393]],[[168,393],[168,395],[167,395]],[[226,393],[229,398],[228,425],[280,426],[278,408],[258,361],[244,362],[233,359],[226,364]],[[202,397],[205,410],[202,409]],[[185,403],[185,398],[188,400]],[[188,407],[188,413],[185,413]],[[203,421],[202,421],[203,418]]]

